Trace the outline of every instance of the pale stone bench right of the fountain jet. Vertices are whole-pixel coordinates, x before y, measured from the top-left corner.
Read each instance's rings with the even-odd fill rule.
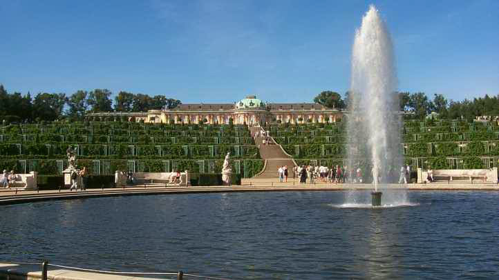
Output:
[[[423,171],[417,168],[417,183],[427,183],[428,170]],[[484,183],[497,183],[498,173],[497,168],[490,169],[440,169],[433,170],[434,181],[469,181],[473,183],[474,179],[480,179]]]

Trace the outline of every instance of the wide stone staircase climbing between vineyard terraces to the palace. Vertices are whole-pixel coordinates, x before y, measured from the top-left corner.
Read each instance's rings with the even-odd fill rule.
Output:
[[[254,137],[257,131],[261,131],[260,127],[251,127],[249,130]],[[265,169],[260,174],[257,174],[254,178],[263,179],[278,179],[277,170],[281,166],[288,166],[288,177],[293,177],[293,167],[294,162],[292,158],[285,154],[281,149],[281,146],[277,145],[272,138],[269,137],[269,142],[267,145],[263,145],[263,137],[256,137],[255,143],[258,145],[260,150],[260,157],[265,159]]]

